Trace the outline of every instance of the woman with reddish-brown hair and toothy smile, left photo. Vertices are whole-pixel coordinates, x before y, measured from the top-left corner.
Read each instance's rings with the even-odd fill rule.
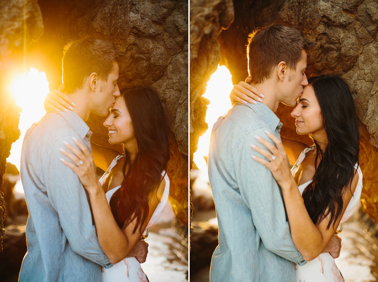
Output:
[[[67,96],[61,97],[71,104]],[[52,98],[64,104],[58,96]],[[56,101],[48,99],[46,108],[64,110]],[[91,143],[92,159],[84,144],[74,140],[79,149],[70,144],[69,150],[60,149],[73,162],[61,161],[88,192],[99,244],[113,263],[102,268],[102,281],[148,281],[136,258],[125,257],[139,239],[147,237],[169,194],[169,134],[157,93],[147,86],[122,89],[104,126],[109,129],[109,143],[122,144],[124,154]],[[106,171],[99,181],[93,161]]]

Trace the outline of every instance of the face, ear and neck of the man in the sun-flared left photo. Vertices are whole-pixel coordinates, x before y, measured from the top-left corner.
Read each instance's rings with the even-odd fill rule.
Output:
[[[94,107],[92,110],[97,115],[106,116],[109,108],[113,107],[115,98],[121,94],[117,85],[118,70],[118,63],[113,62],[113,70],[107,80],[99,79],[99,85],[93,94]]]

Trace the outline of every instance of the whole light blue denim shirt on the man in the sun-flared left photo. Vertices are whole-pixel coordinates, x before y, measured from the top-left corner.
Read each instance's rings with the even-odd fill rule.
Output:
[[[112,264],[96,236],[87,193],[59,159],[63,141],[77,138],[90,150],[91,132],[74,112],[48,112],[25,134],[20,175],[28,205],[28,251],[19,281],[101,282]],[[66,158],[68,159],[68,158]]]

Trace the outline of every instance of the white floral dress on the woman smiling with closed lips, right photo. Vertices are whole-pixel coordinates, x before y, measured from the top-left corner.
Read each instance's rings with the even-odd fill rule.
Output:
[[[304,160],[305,156],[310,150],[314,150],[314,146],[307,147],[302,151],[302,153],[298,157],[298,160],[291,169],[291,174],[294,175],[294,172],[296,172],[299,164]],[[350,199],[347,209],[342,215],[340,224],[337,228],[337,230],[339,231],[341,231],[342,223],[344,223],[355,211],[359,202],[359,198],[361,197],[362,172],[357,164],[355,165],[355,169],[358,172],[358,183],[356,190],[353,193],[353,197]],[[307,185],[311,183],[311,181],[312,180],[298,187],[301,195]],[[321,253],[318,257],[310,260],[302,266],[295,264],[295,279],[296,282],[344,282],[344,279],[342,278],[342,275],[336,266],[335,259],[333,259],[333,257],[329,253]]]

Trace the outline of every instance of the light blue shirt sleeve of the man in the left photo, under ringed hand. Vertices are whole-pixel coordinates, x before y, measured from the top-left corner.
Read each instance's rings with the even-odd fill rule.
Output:
[[[45,162],[46,167],[43,167],[46,191],[73,251],[92,262],[109,268],[112,264],[99,245],[96,228],[92,221],[88,194],[79,177],[60,161],[60,158],[70,161],[60,153],[59,148],[67,149],[63,141],[76,146],[71,139],[73,136],[84,143],[79,135],[68,135],[57,139],[46,149],[48,161]]]

